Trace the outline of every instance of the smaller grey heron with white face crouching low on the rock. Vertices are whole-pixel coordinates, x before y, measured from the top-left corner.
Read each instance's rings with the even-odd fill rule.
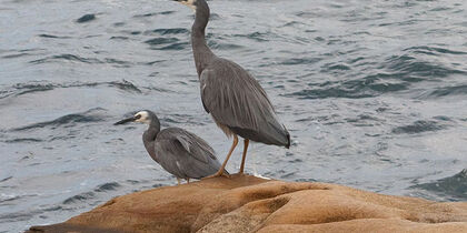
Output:
[[[115,125],[128,122],[149,125],[142,134],[145,148],[152,160],[177,178],[178,184],[180,179],[189,183],[190,179],[206,178],[220,169],[215,151],[205,140],[180,128],[160,130],[159,119],[153,112],[137,112]]]

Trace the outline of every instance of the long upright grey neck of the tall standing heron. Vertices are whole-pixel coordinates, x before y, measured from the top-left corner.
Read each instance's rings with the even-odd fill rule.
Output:
[[[191,27],[191,47],[193,49],[195,65],[198,77],[202,70],[215,58],[209,47],[206,44],[205,29],[209,21],[209,7],[205,0],[198,0],[198,7],[195,13],[195,23]]]

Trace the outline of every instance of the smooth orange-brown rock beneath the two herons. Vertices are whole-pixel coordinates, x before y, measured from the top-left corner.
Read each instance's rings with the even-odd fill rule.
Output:
[[[29,232],[467,232],[467,203],[326,183],[208,179],[118,196]]]

